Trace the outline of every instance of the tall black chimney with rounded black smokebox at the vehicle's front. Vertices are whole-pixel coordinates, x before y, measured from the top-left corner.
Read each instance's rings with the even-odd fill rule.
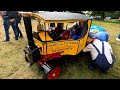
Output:
[[[27,39],[28,39],[28,46],[25,47],[24,49],[25,60],[27,61],[27,63],[30,63],[30,65],[32,65],[41,59],[40,50],[39,50],[40,48],[38,48],[34,44],[31,17],[23,16],[23,20],[24,20],[25,30],[27,34]]]

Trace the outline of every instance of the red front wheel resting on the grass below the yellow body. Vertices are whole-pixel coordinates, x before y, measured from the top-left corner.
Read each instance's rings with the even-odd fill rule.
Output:
[[[60,67],[55,67],[54,69],[52,69],[52,71],[50,71],[47,78],[48,79],[57,79],[60,74],[60,71],[61,71]]]

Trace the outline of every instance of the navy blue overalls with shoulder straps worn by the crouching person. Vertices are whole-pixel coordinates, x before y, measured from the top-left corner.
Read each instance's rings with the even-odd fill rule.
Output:
[[[98,48],[92,44],[95,49],[97,50],[98,52],[98,56],[97,58],[95,59],[95,64],[96,66],[101,70],[101,71],[107,71],[110,67],[113,66],[113,63],[112,64],[109,64],[105,54],[104,54],[104,42],[102,41],[102,54],[100,53],[100,51],[98,50]],[[111,53],[111,56],[112,56],[112,59],[113,59],[113,62],[115,60],[115,57],[114,55]]]

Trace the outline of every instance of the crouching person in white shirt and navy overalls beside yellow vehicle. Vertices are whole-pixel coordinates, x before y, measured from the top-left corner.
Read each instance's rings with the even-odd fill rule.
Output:
[[[95,37],[88,37],[87,44],[83,52],[90,52],[91,54],[91,59],[88,60],[90,70],[98,67],[101,71],[107,72],[107,70],[113,67],[115,57],[108,42],[100,41]]]

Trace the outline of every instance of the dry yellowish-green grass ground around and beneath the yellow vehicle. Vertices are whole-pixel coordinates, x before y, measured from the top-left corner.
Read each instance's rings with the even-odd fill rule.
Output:
[[[33,30],[36,30],[36,21],[33,21]],[[65,62],[61,66],[61,74],[58,79],[119,79],[120,78],[120,42],[116,41],[120,33],[120,23],[93,21],[93,24],[104,27],[109,33],[109,43],[116,56],[116,62],[112,70],[107,74],[99,70],[90,71],[87,67],[87,58],[89,56],[77,56]],[[5,38],[2,19],[0,18],[0,78],[1,79],[41,79],[37,64],[27,67],[24,60],[23,49],[27,45],[25,29],[22,23],[19,25],[24,38],[18,41],[14,40],[14,33],[10,27],[10,42],[3,43]]]

